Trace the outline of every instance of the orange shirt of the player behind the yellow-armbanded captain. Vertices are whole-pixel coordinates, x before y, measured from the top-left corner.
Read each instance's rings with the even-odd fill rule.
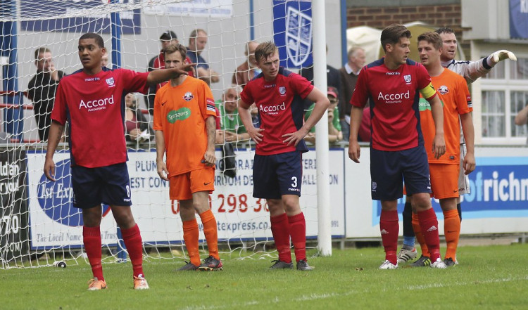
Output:
[[[438,77],[431,77],[436,92],[444,105],[444,140],[446,153],[438,160],[432,151],[435,134],[431,105],[420,98],[420,122],[429,164],[460,164],[460,120],[458,115],[472,112],[470,91],[465,79],[445,69]]]

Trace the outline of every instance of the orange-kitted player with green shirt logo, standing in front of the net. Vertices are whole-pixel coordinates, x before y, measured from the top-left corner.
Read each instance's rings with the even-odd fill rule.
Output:
[[[166,47],[165,67],[182,68],[187,50],[181,44]],[[213,93],[201,79],[180,75],[156,92],[154,126],[158,175],[169,181],[170,199],[180,202],[183,238],[190,261],[180,271],[222,270],[218,255],[216,219],[209,208],[215,190],[216,109]],[[166,155],[166,163],[163,162]],[[200,261],[199,214],[209,256]]]

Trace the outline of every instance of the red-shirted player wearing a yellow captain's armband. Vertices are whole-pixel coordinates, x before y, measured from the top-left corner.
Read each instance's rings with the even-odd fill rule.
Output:
[[[385,249],[385,261],[379,269],[396,269],[398,250],[398,198],[403,183],[413,195],[425,241],[429,247],[433,268],[445,269],[440,257],[438,220],[432,209],[429,193],[429,165],[420,130],[418,92],[427,99],[434,118],[434,138],[431,151],[439,158],[445,152],[444,118],[441,102],[431,84],[431,78],[420,63],[408,59],[410,31],[393,24],[382,31],[385,57],[363,67],[351,99],[351,134],[348,156],[359,162],[358,131],[363,107],[370,102],[370,176],[373,200],[381,200],[379,230]]]

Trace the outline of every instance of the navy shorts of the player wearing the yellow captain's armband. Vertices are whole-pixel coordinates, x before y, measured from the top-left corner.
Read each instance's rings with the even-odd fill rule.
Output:
[[[384,151],[370,148],[370,176],[373,200],[396,200],[408,195],[431,193],[429,163],[423,146],[408,150]]]

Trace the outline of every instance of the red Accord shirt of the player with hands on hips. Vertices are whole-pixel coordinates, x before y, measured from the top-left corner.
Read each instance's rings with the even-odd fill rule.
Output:
[[[249,108],[256,103],[260,115],[260,133],[263,139],[256,146],[257,155],[274,155],[300,150],[308,151],[304,140],[295,146],[283,143],[283,134],[290,134],[303,127],[303,99],[313,90],[313,85],[301,75],[279,68],[274,81],[266,82],[260,74],[252,79],[241,93],[241,99]]]

